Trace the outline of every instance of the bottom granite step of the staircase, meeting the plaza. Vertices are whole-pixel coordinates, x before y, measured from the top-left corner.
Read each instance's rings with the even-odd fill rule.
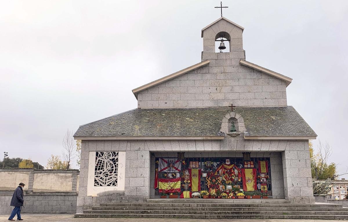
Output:
[[[270,215],[270,214],[75,214],[75,217],[146,217],[192,219],[348,219],[348,215]]]

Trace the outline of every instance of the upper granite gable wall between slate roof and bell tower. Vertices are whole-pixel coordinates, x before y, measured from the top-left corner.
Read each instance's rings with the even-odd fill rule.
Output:
[[[138,108],[287,105],[284,80],[214,54],[207,66],[139,92]]]

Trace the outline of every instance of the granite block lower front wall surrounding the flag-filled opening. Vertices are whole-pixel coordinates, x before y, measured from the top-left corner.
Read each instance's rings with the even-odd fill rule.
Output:
[[[89,151],[126,151],[126,180],[123,192],[109,192],[96,197],[87,196]],[[213,152],[215,155],[224,152],[237,155],[243,151],[252,152],[256,157],[270,155],[271,171],[274,172],[272,179],[275,181],[273,184],[275,198],[285,197],[292,202],[314,201],[313,193],[309,192],[311,184],[307,183],[308,171],[310,172],[310,162],[307,159],[308,140],[245,140],[242,136],[226,137],[223,140],[83,140],[77,212],[105,202],[146,201],[151,195],[150,187],[153,186],[150,183],[153,178],[150,174],[150,152],[165,153],[166,156],[170,153],[176,156],[175,153],[178,151],[191,151],[192,155],[197,157],[204,157]],[[295,156],[291,155],[299,157],[298,162],[294,161],[292,158]],[[301,174],[295,175],[292,169]],[[151,168],[151,171],[154,172],[154,168]],[[306,184],[303,184],[304,178]]]

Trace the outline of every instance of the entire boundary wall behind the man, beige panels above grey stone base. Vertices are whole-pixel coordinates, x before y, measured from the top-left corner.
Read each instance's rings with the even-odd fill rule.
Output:
[[[76,213],[78,170],[0,169],[0,215],[9,214],[14,190],[25,183],[22,213]]]

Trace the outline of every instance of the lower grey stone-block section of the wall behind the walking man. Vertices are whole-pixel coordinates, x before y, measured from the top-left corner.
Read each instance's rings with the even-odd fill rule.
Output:
[[[0,215],[10,214],[13,206],[11,194],[0,195]],[[77,194],[29,194],[24,195],[22,213],[76,213]]]

